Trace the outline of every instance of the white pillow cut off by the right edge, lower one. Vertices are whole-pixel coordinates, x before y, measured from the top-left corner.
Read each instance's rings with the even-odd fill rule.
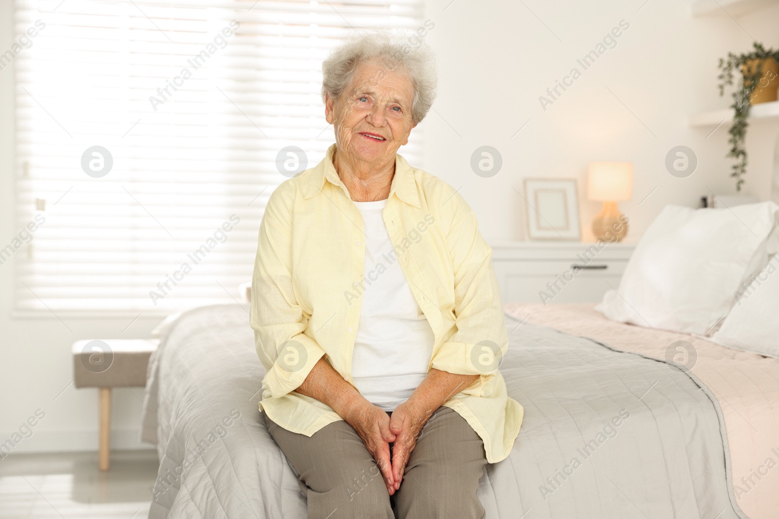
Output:
[[[779,256],[768,262],[746,287],[725,317],[714,342],[731,348],[779,357]]]

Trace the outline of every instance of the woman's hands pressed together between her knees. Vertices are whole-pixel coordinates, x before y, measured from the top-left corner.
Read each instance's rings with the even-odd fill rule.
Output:
[[[400,489],[411,451],[433,412],[435,409],[424,409],[407,401],[398,405],[390,417],[363,398],[344,416],[373,456],[390,496]],[[391,456],[390,444],[393,444]]]

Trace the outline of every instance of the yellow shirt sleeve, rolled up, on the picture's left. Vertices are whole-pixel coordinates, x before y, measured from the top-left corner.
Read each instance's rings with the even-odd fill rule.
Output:
[[[273,398],[299,387],[325,354],[305,335],[308,317],[294,296],[292,234],[285,217],[290,209],[284,202],[271,195],[259,226],[249,312],[257,355],[266,370],[263,387]]]

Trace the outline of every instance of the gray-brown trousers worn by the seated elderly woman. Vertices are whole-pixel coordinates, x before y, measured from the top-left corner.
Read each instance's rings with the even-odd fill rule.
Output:
[[[371,454],[348,423],[331,423],[307,437],[263,415],[306,491],[308,519],[485,517],[476,497],[487,464],[484,444],[452,409],[439,408],[425,424],[400,489],[391,497]]]

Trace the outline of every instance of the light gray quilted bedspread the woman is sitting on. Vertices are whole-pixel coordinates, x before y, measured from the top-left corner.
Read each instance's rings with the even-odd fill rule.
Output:
[[[746,518],[721,410],[703,384],[662,361],[506,323],[501,372],[525,415],[509,458],[481,479],[488,519]],[[160,455],[150,518],[307,517],[259,419],[262,378],[237,304],[190,310],[164,330],[143,415],[142,439]]]

